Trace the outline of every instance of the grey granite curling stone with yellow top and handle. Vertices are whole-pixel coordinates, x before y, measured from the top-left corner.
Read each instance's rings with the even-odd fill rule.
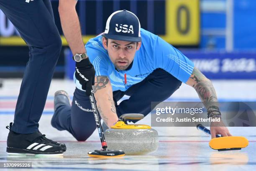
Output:
[[[144,115],[124,114],[104,135],[109,149],[119,149],[126,155],[146,154],[158,148],[158,133],[148,125],[131,125],[127,120],[141,120]]]

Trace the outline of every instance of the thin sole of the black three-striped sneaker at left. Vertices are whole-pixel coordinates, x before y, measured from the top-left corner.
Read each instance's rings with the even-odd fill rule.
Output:
[[[34,154],[34,155],[63,155],[63,151],[33,151],[28,149],[7,147],[6,152],[10,155]]]

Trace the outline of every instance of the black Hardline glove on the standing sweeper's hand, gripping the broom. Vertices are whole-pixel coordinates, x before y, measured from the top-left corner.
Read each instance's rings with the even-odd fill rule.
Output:
[[[88,96],[91,95],[92,85],[94,85],[95,69],[89,58],[76,62],[75,77],[82,85],[82,89],[86,91]]]

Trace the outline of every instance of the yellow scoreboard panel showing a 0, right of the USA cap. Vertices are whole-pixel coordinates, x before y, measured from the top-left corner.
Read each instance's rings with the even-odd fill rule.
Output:
[[[173,45],[199,44],[199,0],[166,0],[166,35],[162,38]]]

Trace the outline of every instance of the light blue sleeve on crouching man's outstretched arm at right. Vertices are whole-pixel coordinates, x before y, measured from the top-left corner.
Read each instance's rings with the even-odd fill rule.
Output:
[[[156,68],[162,68],[186,83],[194,69],[194,63],[178,49],[158,37],[155,44]]]

